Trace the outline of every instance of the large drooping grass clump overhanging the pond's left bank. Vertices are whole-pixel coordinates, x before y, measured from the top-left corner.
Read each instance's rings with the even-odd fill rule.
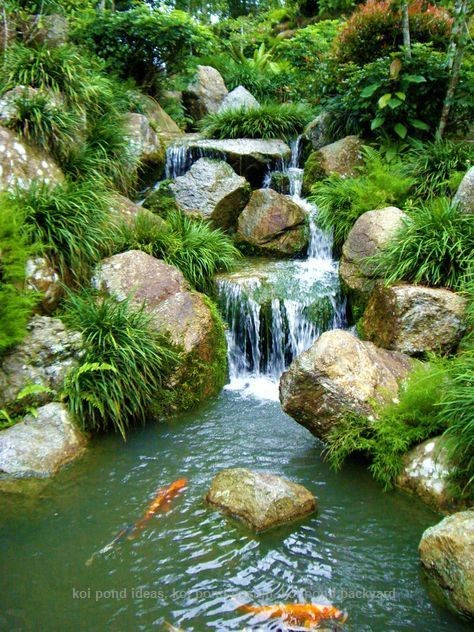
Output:
[[[69,294],[62,318],[82,331],[85,344],[81,366],[65,382],[71,412],[86,430],[114,429],[125,438],[160,400],[179,354],[129,299]]]

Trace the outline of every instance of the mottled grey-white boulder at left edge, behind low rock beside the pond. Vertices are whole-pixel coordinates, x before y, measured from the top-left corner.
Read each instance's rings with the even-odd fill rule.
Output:
[[[15,413],[25,405],[37,406],[54,399],[64,378],[83,355],[82,336],[66,329],[59,318],[34,316],[23,342],[0,364],[0,408]],[[18,402],[17,396],[31,386],[38,392]]]

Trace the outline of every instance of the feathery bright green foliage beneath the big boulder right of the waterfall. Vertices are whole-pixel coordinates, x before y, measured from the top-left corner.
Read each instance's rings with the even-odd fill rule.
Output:
[[[377,418],[347,414],[328,437],[331,465],[339,469],[349,455],[362,453],[371,461],[374,478],[389,489],[403,467],[404,454],[445,428],[436,414],[445,381],[442,364],[418,365],[400,388],[398,403],[378,407]]]

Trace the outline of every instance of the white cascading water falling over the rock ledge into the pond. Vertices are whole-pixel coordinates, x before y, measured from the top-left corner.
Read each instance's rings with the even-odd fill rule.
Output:
[[[259,397],[276,399],[279,378],[293,358],[328,329],[344,325],[338,264],[332,236],[316,224],[317,209],[301,197],[300,139],[288,175],[290,195],[308,213],[309,245],[304,260],[248,262],[217,282],[219,304],[228,324],[230,384]],[[267,185],[271,173],[266,179]]]

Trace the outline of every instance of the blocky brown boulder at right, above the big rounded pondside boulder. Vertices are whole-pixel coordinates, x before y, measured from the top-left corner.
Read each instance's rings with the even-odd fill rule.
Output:
[[[466,299],[449,290],[377,283],[364,312],[364,338],[413,356],[449,353],[466,331],[465,310]]]

